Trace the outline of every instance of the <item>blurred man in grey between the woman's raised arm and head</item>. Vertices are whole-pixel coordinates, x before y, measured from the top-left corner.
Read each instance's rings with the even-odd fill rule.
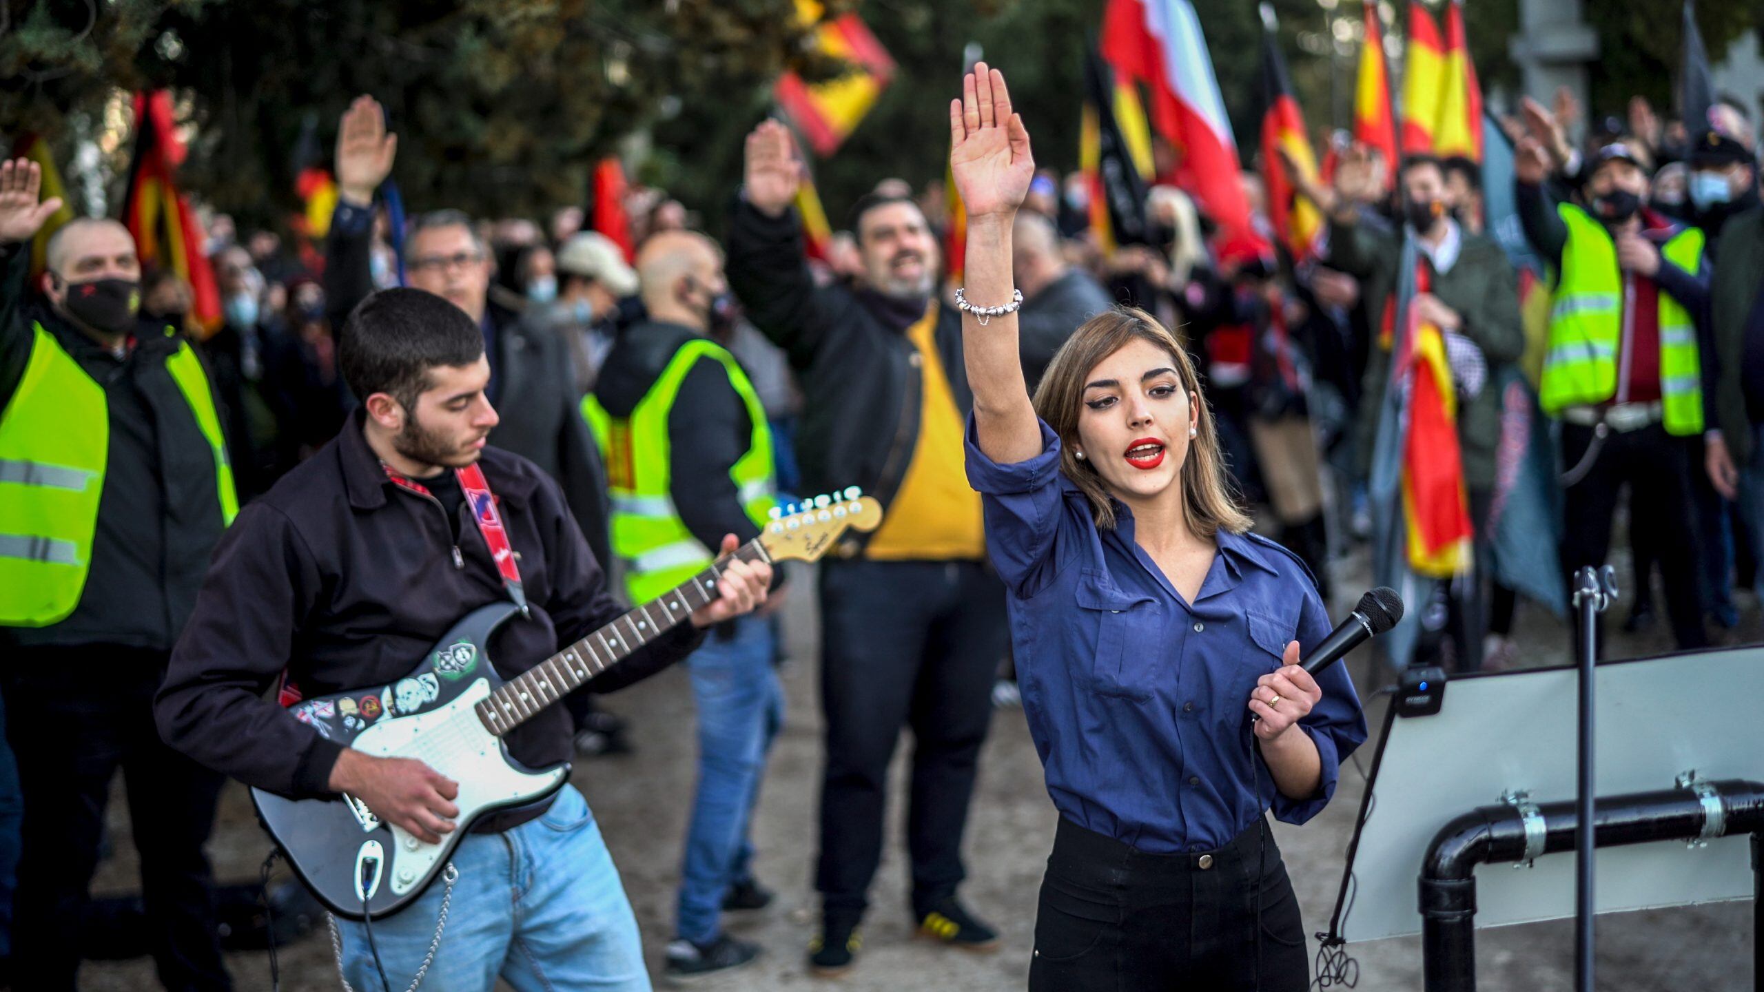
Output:
[[[1041,214],[1023,210],[1011,226],[1011,272],[1023,291],[1018,339],[1030,394],[1053,355],[1078,325],[1110,309],[1108,291],[1060,251],[1060,231]]]

